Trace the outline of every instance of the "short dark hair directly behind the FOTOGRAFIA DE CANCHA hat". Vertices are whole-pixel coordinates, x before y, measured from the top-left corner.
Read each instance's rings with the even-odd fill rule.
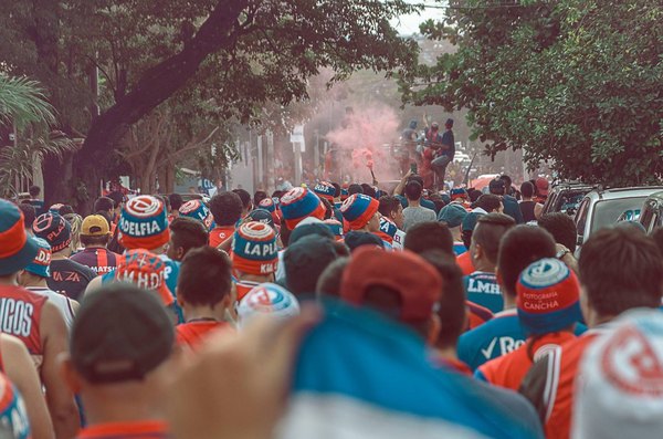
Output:
[[[497,271],[501,290],[511,296],[516,295],[516,283],[523,270],[544,258],[555,258],[555,239],[539,227],[520,224],[502,237],[497,253]]]

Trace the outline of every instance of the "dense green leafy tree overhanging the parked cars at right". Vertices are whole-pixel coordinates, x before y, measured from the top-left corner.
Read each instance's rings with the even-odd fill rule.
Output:
[[[491,156],[523,148],[562,178],[663,177],[663,9],[655,0],[451,1],[422,31],[457,52],[403,77],[403,98],[469,108]]]

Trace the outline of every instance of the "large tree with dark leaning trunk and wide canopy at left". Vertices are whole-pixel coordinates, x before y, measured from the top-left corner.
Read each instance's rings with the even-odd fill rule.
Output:
[[[403,0],[0,3],[21,17],[9,23],[12,35],[34,43],[25,48],[30,56],[13,53],[12,64],[45,72],[51,90],[64,88],[62,82],[80,88],[91,70],[99,69],[103,87],[112,91],[99,96],[102,113],[90,126],[77,122],[78,112],[62,112],[67,129],[86,133],[71,174],[88,187],[107,171],[133,124],[167,100],[186,96],[192,84],[203,101],[215,101],[219,119],[249,122],[265,102],[305,98],[306,81],[320,67],[336,72],[333,81],[361,67],[402,71],[417,52],[389,24],[414,9]],[[69,106],[67,95],[57,96],[56,107]],[[88,108],[93,97],[78,94],[77,101]]]

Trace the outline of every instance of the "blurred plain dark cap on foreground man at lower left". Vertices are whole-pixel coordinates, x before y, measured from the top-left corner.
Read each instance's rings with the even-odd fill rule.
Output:
[[[90,383],[143,379],[172,351],[175,332],[158,297],[127,283],[85,296],[71,334],[71,358]]]

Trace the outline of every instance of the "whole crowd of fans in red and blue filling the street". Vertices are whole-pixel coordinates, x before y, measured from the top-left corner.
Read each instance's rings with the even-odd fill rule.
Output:
[[[547,181],[0,200],[0,438],[655,438],[663,230]]]

